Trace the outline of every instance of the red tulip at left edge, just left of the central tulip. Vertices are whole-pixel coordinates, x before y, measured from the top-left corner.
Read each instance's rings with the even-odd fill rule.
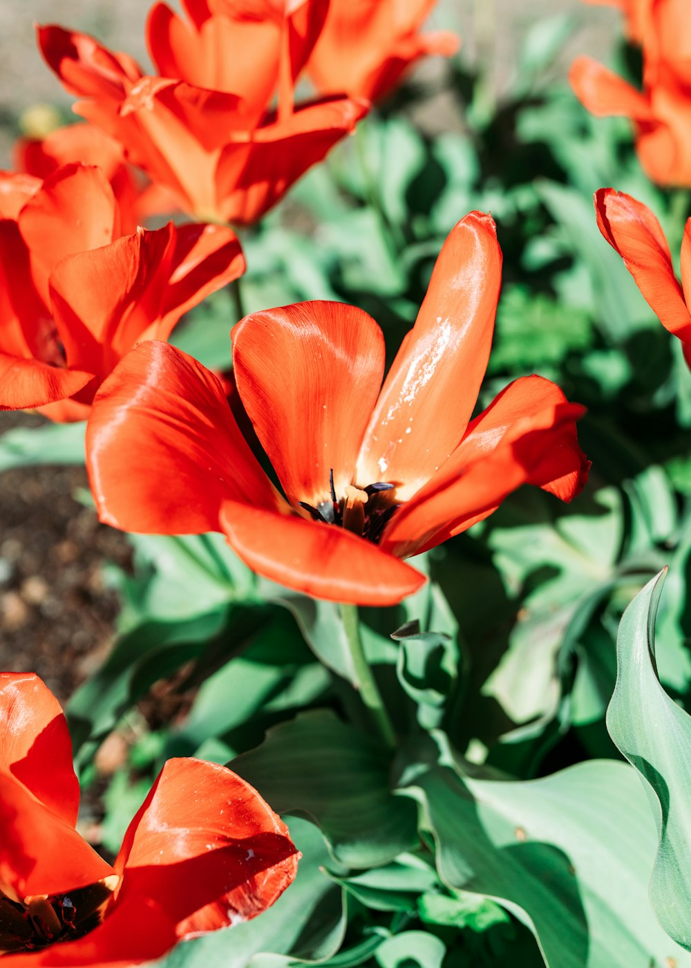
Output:
[[[0,215],[0,409],[83,419],[128,349],[167,339],[245,268],[226,227],[169,223],[122,236],[112,189],[93,166],[63,166],[44,182],[0,176]]]

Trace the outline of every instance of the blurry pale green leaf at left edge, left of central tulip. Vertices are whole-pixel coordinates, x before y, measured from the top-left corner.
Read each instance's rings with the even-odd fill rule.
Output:
[[[83,464],[86,423],[14,427],[0,436],[0,471],[42,464]]]

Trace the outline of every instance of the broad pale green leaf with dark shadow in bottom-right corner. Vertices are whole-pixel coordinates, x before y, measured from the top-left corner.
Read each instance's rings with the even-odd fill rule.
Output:
[[[529,782],[437,766],[408,789],[423,804],[442,881],[501,903],[550,968],[691,965],[648,903],[655,831],[627,766],[594,761]]]

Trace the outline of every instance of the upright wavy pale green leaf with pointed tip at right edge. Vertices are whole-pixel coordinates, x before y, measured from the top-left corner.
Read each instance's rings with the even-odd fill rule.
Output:
[[[648,582],[619,625],[607,728],[643,777],[657,823],[650,902],[668,934],[691,950],[691,717],[664,691],[655,668],[655,616],[664,579],[662,571]]]

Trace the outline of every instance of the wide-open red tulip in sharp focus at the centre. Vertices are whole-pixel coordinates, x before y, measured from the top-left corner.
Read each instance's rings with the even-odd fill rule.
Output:
[[[220,381],[175,348],[140,345],[105,380],[87,427],[101,520],[220,530],[289,588],[388,605],[424,581],[401,559],[487,517],[522,483],[572,499],[586,481],[574,422],[583,408],[554,383],[518,379],[470,420],[500,275],[495,224],[473,212],[446,240],[380,392],[383,337],[359,309],[302,303],[238,324],[237,387],[286,499]]]

